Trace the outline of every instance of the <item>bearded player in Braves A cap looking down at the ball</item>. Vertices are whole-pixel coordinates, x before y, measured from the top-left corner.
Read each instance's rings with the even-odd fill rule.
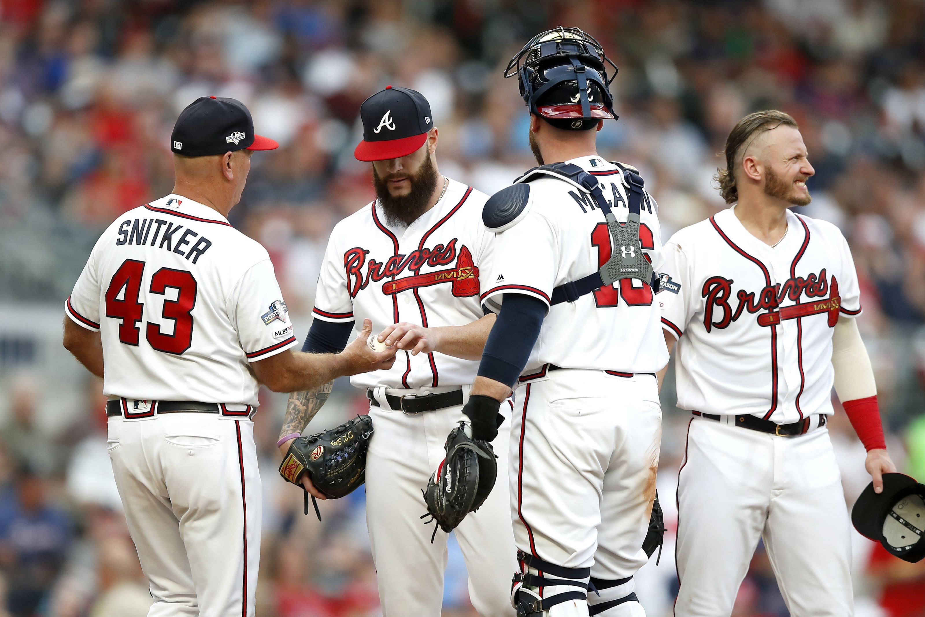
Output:
[[[462,413],[495,321],[479,302],[494,242],[481,218],[487,196],[440,174],[438,130],[420,93],[389,86],[364,102],[360,116],[364,141],[354,154],[372,163],[376,201],[331,233],[303,349],[338,352],[367,318],[381,330],[370,343],[396,350],[396,362],[351,379],[366,391],[375,433],[361,417],[299,438],[331,384],[292,394],[279,441],[288,463],[280,471],[316,499],[351,490],[365,474],[385,615],[440,614],[446,532],[458,524],[475,610],[510,616],[516,553],[508,482],[495,478],[498,466],[506,468],[511,423],[499,428],[503,416],[494,413],[488,438],[473,439]],[[510,415],[509,403],[501,409]],[[341,437],[355,449],[339,450]],[[364,460],[357,454],[367,443]],[[436,524],[422,523],[425,512]]]

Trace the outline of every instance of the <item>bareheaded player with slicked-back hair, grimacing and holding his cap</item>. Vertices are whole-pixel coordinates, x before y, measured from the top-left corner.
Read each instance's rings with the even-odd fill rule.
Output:
[[[813,173],[793,117],[760,111],[726,142],[720,190],[733,204],[665,245],[658,300],[689,410],[678,480],[674,614],[733,610],[764,539],[795,615],[854,611],[845,497],[826,429],[834,385],[868,450],[876,490],[886,452],[848,244],[797,214]]]

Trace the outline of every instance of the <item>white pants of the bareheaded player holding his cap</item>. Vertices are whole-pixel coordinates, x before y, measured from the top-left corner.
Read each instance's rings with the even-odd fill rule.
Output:
[[[678,478],[674,614],[732,613],[760,537],[791,614],[854,613],[848,513],[829,431],[777,437],[694,418]]]

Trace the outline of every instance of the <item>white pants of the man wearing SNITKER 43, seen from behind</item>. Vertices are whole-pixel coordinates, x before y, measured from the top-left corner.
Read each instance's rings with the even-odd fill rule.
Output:
[[[250,617],[260,561],[253,423],[213,413],[109,418],[109,457],[148,577],[149,617]]]

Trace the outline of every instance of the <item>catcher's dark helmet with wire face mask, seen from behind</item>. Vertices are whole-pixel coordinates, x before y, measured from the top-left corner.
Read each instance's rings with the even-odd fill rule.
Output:
[[[613,68],[608,77],[607,65]],[[609,86],[617,67],[600,43],[578,28],[537,34],[511,58],[504,77],[518,75],[530,113],[560,129],[588,130],[616,119]]]

